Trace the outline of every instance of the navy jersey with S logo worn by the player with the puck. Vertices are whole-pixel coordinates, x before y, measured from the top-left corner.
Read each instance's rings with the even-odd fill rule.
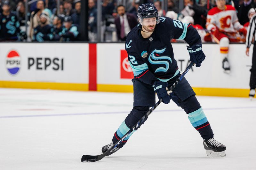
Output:
[[[193,26],[166,17],[160,18],[149,38],[142,37],[139,26],[128,33],[125,49],[134,78],[153,85],[156,81],[167,82],[180,73],[174,59],[172,39],[185,40],[189,46],[201,43]]]

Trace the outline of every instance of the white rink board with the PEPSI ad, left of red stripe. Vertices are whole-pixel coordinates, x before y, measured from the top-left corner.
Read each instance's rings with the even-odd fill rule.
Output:
[[[0,43],[0,80],[88,83],[88,48],[87,43]],[[11,50],[20,55],[20,70],[15,75],[6,68],[6,56]],[[59,66],[53,64],[54,58]]]

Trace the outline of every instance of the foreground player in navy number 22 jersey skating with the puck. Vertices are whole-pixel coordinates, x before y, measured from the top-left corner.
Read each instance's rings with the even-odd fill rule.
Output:
[[[166,87],[171,87],[180,76],[170,43],[173,38],[185,40],[188,43],[190,61],[196,63],[196,67],[200,67],[205,59],[201,39],[196,29],[178,20],[160,18],[156,7],[150,3],[140,5],[138,18],[139,25],[130,31],[125,42],[128,60],[134,74],[133,108],[116,130],[112,142],[102,147],[102,152],[108,151],[149,111],[149,107],[156,103],[155,93],[157,93],[158,98],[162,98],[165,104],[172,99],[187,113],[192,126],[203,138],[204,149],[207,150],[208,156],[210,154],[226,156],[226,147],[213,138],[210,123],[186,78],[180,81],[170,95],[166,90]],[[108,155],[122,148],[140,126],[135,128]]]

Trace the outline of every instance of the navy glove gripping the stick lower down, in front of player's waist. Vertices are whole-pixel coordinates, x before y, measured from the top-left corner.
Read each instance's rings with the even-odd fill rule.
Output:
[[[168,95],[167,89],[168,89],[168,83],[162,82],[162,81],[157,81],[154,83],[153,88],[157,94],[158,99],[160,100],[161,98],[163,99],[164,104],[170,103],[170,100],[173,96],[173,92]]]

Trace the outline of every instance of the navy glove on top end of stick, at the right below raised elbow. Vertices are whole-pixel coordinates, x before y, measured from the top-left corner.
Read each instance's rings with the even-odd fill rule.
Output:
[[[190,61],[196,63],[196,67],[200,67],[201,63],[205,59],[204,52],[202,51],[202,44],[196,44],[192,47],[187,46],[188,53],[190,55]]]

